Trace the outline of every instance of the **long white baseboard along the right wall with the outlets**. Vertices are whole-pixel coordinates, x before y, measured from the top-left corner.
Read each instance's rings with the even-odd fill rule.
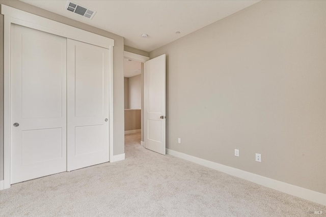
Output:
[[[168,154],[171,154],[172,156],[182,158],[187,161],[191,161],[196,164],[200,164],[205,167],[209,167],[214,170],[218,170],[224,173],[227,173],[229,175],[233,175],[242,179],[246,179],[248,181],[263,185],[267,188],[274,189],[289,195],[293,195],[296,197],[303,198],[305,200],[309,200],[321,205],[326,206],[326,194],[322,194],[320,192],[315,192],[309,189],[305,189],[302,187],[298,187],[296,185],[292,185],[289,183],[285,183],[282,181],[278,181],[275,179],[267,178],[261,175],[257,175],[254,173],[246,172],[243,170],[239,170],[233,167],[225,166],[223,164],[218,164],[215,162],[207,161],[201,158],[197,158],[194,156],[190,156],[185,153],[181,153],[178,151],[174,151],[171,149],[166,149],[166,152]]]

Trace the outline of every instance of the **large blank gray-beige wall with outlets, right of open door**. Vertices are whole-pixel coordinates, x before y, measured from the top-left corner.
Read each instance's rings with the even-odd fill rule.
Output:
[[[325,23],[325,1],[262,1],[150,52],[167,148],[326,193]]]

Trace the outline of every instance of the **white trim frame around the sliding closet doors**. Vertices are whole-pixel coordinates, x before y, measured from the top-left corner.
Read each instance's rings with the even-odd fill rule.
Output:
[[[29,28],[41,30],[42,32],[65,38],[97,45],[110,49],[110,94],[109,94],[109,154],[110,161],[113,159],[113,46],[114,40],[85,30],[69,26],[57,21],[40,17],[28,12],[24,12],[6,5],[1,5],[1,13],[4,15],[4,180],[0,187],[10,188],[11,179],[11,24],[18,24]],[[1,189],[2,190],[2,189]]]

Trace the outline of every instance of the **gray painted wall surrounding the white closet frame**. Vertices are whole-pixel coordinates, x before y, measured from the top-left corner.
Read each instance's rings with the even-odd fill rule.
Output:
[[[124,39],[121,36],[106,32],[105,30],[87,25],[82,22],[78,22],[69,18],[66,18],[64,16],[51,13],[49,11],[37,8],[32,5],[25,4],[23,2],[19,2],[16,0],[12,1],[5,1],[0,0],[0,4],[8,5],[13,8],[17,8],[22,11],[26,11],[32,14],[36,14],[41,17],[45,17],[51,20],[55,20],[70,26],[74,26],[80,29],[87,30],[88,32],[92,32],[101,36],[105,36],[107,38],[111,38],[115,40],[115,46],[113,49],[113,83],[114,83],[114,147],[113,147],[113,154],[122,154],[124,153],[124,90],[123,90],[123,51],[124,51]],[[3,52],[4,52],[4,40],[3,40],[3,30],[4,30],[4,20],[3,15],[0,15],[0,126],[1,131],[3,133]],[[1,133],[1,135],[2,135]],[[3,136],[1,136],[0,140],[0,180],[3,180]]]

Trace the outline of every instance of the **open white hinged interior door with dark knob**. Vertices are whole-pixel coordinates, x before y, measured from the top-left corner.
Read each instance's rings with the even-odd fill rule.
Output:
[[[145,62],[145,148],[166,153],[166,55]]]

